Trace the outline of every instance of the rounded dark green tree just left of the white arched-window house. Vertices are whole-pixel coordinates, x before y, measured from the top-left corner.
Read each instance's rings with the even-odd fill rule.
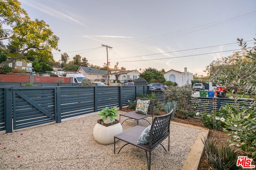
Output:
[[[148,83],[164,83],[166,81],[160,71],[151,67],[145,69],[139,76],[144,78]]]

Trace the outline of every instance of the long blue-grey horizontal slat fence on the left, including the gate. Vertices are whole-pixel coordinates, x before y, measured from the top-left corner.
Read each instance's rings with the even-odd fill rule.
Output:
[[[139,93],[148,94],[149,86],[0,87],[0,131],[60,123],[105,107],[122,109]]]

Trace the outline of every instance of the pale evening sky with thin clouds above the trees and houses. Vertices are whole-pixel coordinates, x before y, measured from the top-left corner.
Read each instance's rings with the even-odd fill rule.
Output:
[[[206,75],[213,60],[256,38],[256,0],[19,0],[32,20],[60,38],[55,61],[67,53],[89,63],[143,71]],[[112,48],[109,48],[112,47]]]

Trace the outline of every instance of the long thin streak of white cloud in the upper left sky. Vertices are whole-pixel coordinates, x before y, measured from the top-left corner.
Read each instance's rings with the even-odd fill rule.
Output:
[[[81,23],[80,21],[78,21],[78,20],[76,20],[76,19],[74,19],[74,18],[72,18],[72,17],[70,17],[70,16],[68,16],[68,15],[66,15],[66,14],[64,14],[60,11],[57,11],[53,8],[50,8],[50,7],[48,7],[44,4],[40,4],[40,3],[37,3],[35,1],[33,1],[34,4],[32,4],[31,1],[29,1],[29,2],[23,1],[22,3],[27,4],[28,6],[31,6],[31,7],[35,8],[35,9],[41,11],[41,12],[44,12],[44,13],[50,15],[50,16],[54,16],[54,17],[60,18],[62,20],[69,20],[69,21],[72,21],[72,22],[76,22],[77,24],[80,24],[80,25],[84,26],[84,24]]]

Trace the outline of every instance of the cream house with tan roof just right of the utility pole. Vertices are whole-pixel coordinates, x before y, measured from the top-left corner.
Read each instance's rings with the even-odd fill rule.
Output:
[[[121,83],[125,81],[134,81],[139,78],[138,70],[112,70],[110,71],[110,79],[119,80]]]

